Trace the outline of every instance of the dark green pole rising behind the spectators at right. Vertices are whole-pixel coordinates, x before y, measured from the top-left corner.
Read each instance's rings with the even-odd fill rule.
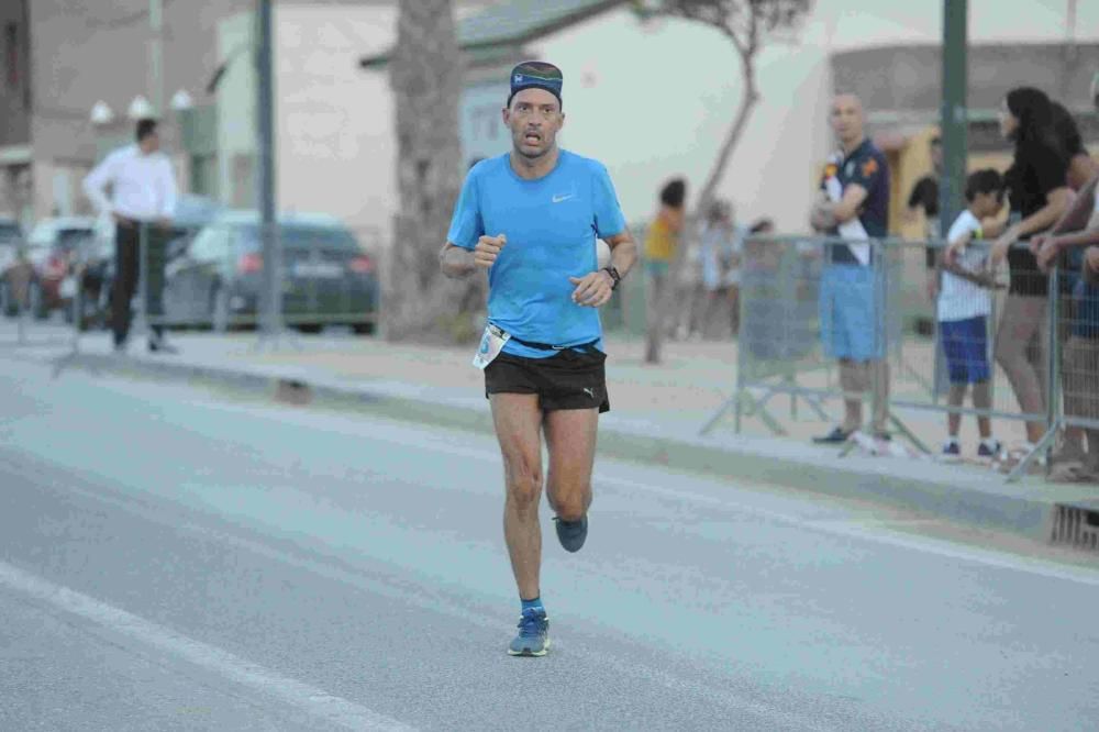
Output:
[[[967,0],[943,0],[943,175],[939,187],[940,235],[946,239],[965,190],[968,157],[968,21]]]

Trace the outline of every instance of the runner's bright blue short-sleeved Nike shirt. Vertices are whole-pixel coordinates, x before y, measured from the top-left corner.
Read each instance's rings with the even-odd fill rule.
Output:
[[[596,270],[596,237],[625,231],[607,168],[560,151],[536,180],[520,178],[509,154],[481,160],[466,176],[447,241],[473,249],[482,235],[507,243],[488,273],[488,320],[523,341],[575,346],[602,336],[597,308],[573,302],[569,277]],[[597,344],[600,345],[601,344]],[[555,352],[508,341],[504,353],[546,358]]]

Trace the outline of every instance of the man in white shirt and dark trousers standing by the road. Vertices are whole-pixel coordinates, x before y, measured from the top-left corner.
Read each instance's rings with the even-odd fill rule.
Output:
[[[156,120],[137,122],[137,142],[108,155],[84,179],[84,191],[102,213],[115,223],[114,289],[111,296],[111,320],[114,348],[125,348],[130,334],[130,301],[141,275],[142,231],[146,246],[145,314],[156,319],[164,313],[165,245],[171,217],[176,210],[176,179],[171,160],[160,152]],[[111,187],[108,197],[107,186]],[[164,326],[152,328],[149,351],[174,353],[164,341]]]

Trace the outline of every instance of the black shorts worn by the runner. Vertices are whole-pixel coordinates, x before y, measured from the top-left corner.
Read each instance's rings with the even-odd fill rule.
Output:
[[[558,351],[548,358],[524,358],[501,353],[485,367],[485,397],[493,393],[534,393],[543,412],[559,409],[610,411],[607,397],[607,354]]]

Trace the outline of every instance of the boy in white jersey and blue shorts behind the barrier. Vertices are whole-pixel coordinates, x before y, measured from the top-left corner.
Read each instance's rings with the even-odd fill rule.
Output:
[[[968,246],[981,237],[981,220],[995,217],[1003,207],[1003,178],[992,169],[977,170],[966,180],[967,208],[958,214],[946,235],[948,246],[941,263],[942,282],[936,303],[939,336],[946,353],[951,377],[948,403],[962,407],[965,393],[973,385],[973,406],[988,410],[992,406],[991,368],[988,362],[988,318],[992,312],[991,281],[985,270],[986,248]],[[958,431],[962,414],[946,417],[948,436],[943,455],[962,454]],[[980,446],[977,454],[995,457],[1000,443],[992,437],[991,420],[977,418]]]

